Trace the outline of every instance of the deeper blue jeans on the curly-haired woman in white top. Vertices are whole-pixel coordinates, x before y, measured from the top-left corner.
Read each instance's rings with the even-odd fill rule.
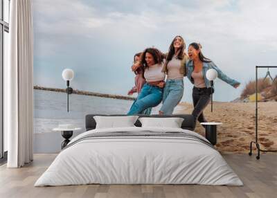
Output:
[[[127,115],[142,114],[145,109],[159,105],[162,99],[162,88],[145,83]]]

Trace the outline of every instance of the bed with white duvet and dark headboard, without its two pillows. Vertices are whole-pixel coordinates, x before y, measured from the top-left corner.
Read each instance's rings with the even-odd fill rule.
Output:
[[[93,116],[96,115],[86,116],[87,132],[71,140],[35,186],[243,185],[220,152],[206,138],[192,131],[191,115],[151,116],[184,118],[181,128],[141,127],[137,120],[136,127],[106,129],[96,129]]]

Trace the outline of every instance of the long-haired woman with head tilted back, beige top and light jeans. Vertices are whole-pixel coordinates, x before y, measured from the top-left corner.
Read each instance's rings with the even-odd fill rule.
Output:
[[[184,93],[184,75],[186,75],[186,44],[183,37],[176,36],[168,49],[163,71],[167,74],[166,87],[163,89],[163,105],[159,114],[171,115]]]

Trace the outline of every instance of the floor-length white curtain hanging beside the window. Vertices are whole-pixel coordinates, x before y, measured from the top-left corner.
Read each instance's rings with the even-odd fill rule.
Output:
[[[9,64],[4,78],[8,168],[33,161],[32,0],[10,1]]]

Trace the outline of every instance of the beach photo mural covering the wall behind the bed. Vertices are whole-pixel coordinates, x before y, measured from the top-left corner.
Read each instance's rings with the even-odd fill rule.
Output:
[[[134,6],[125,1],[33,1],[35,152],[60,150],[63,138],[53,129],[74,125],[81,129],[73,136],[80,134],[84,132],[87,114],[159,114],[159,111],[172,114],[177,104],[173,114],[193,113],[200,122],[223,123],[218,127],[216,145],[221,152],[248,152],[255,134],[255,66],[265,63],[262,58],[267,64],[277,64],[271,33],[260,35],[256,31],[253,23],[259,20],[249,23],[250,18],[255,21],[254,11],[249,11],[249,6],[257,8],[258,1],[255,2],[247,6],[222,2],[208,6],[195,2],[151,1]],[[257,37],[266,42],[260,42]],[[177,49],[181,53],[176,53]],[[211,102],[203,98],[200,104],[203,107],[193,107],[193,100],[199,102],[196,95],[200,94],[193,86],[207,85],[206,77],[204,81],[191,81],[191,78],[197,79],[196,73],[200,70],[193,73],[193,68],[199,66],[187,65],[188,78],[184,82],[181,80],[184,73],[180,72],[180,76],[170,69],[184,59],[197,62],[194,58],[199,51],[204,55],[203,67],[216,65],[215,69],[220,69],[214,81],[213,112]],[[176,60],[175,64],[172,60]],[[159,71],[157,67],[154,74],[145,73],[154,69],[151,67],[154,64],[167,65],[169,69]],[[72,88],[69,111],[66,78],[62,77],[64,69],[72,69],[74,73],[69,84]],[[146,74],[146,81],[142,73]],[[164,79],[162,73],[166,78],[179,79],[174,82],[179,92],[172,92],[172,98],[167,93],[167,105],[163,105],[164,94],[159,93],[160,89],[169,91],[169,83],[158,83]],[[276,76],[277,69],[261,69],[258,74],[259,141],[267,149],[277,148]],[[153,94],[157,95],[142,107],[134,100],[138,92],[148,91],[143,89],[145,83],[156,87],[157,92]],[[199,122],[195,132],[204,135],[204,127]]]

